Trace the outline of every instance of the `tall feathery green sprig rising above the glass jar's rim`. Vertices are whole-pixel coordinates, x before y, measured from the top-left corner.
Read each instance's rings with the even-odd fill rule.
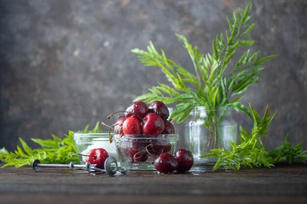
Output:
[[[195,74],[168,59],[163,49],[159,53],[152,42],[147,46],[147,50],[132,49],[132,52],[139,55],[140,62],[145,66],[160,68],[172,84],[171,87],[158,82],[158,86],[149,89],[150,93],[140,95],[134,101],[161,100],[166,104],[179,102],[171,114],[172,118],[178,117],[178,123],[186,119],[196,106],[232,106],[252,117],[248,109],[240,103],[243,96],[237,95],[244,93],[248,87],[258,82],[259,77],[263,77],[260,71],[264,69],[264,63],[276,55],[262,57],[260,51],[252,53],[248,49],[230,72],[226,73],[238,48],[256,43],[253,40],[243,40],[255,26],[255,23],[250,23],[251,6],[249,3],[244,12],[240,9],[238,14],[233,12],[232,21],[227,17],[229,29],[224,35],[221,33],[213,40],[212,55],[201,54],[197,46],[193,47],[185,36],[176,34],[192,60]],[[235,98],[232,99],[233,97]]]

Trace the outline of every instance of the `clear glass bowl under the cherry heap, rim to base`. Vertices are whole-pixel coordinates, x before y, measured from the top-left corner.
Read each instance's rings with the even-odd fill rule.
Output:
[[[161,153],[174,155],[178,134],[170,135],[114,135],[116,151],[122,168],[153,171],[154,160]]]

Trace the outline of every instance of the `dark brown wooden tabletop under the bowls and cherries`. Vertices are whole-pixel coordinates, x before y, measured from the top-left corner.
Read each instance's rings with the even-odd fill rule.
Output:
[[[1,164],[0,164],[1,165]],[[109,177],[30,166],[0,168],[0,204],[307,204],[307,165],[184,174],[130,171]]]

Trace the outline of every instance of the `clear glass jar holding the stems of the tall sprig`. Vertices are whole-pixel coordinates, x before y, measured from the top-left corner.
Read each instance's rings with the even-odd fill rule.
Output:
[[[189,143],[195,164],[213,164],[216,158],[200,156],[217,148],[231,151],[230,141],[234,144],[239,142],[238,124],[232,118],[232,111],[231,107],[223,106],[194,108],[189,122]]]

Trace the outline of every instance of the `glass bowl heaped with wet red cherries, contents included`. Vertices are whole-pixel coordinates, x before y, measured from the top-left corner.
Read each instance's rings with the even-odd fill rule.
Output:
[[[161,101],[153,101],[149,106],[138,101],[130,104],[114,126],[118,159],[126,170],[156,170],[154,161],[161,153],[174,155],[178,134],[169,118],[169,110]],[[111,118],[114,114],[108,116]]]

